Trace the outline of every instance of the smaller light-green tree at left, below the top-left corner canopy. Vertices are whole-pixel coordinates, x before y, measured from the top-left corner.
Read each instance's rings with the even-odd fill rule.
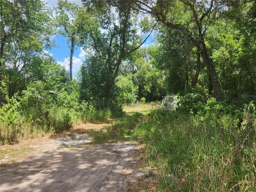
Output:
[[[37,79],[41,70],[41,59],[47,54],[43,47],[50,46],[49,36],[25,33],[5,48],[5,81],[11,98],[14,93],[21,94],[28,82]],[[42,71],[41,71],[42,72]]]

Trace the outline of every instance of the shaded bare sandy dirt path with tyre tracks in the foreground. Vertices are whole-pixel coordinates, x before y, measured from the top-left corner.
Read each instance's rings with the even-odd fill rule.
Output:
[[[88,142],[86,135],[75,135],[36,146],[34,156],[1,166],[0,191],[125,191],[138,175],[136,144],[81,149]]]

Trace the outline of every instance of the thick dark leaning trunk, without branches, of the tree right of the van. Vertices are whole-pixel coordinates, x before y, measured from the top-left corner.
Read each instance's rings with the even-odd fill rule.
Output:
[[[221,94],[221,89],[220,89],[220,83],[219,83],[219,80],[218,80],[218,76],[217,76],[216,70],[215,70],[214,66],[212,65],[212,62],[211,62],[211,60],[208,56],[206,45],[205,45],[204,42],[202,42],[201,56],[203,58],[203,61],[204,61],[205,65],[207,66],[207,69],[209,70],[209,74],[210,74],[211,79],[212,79],[212,85],[213,85],[213,88],[214,88],[216,101],[221,101],[222,94]]]

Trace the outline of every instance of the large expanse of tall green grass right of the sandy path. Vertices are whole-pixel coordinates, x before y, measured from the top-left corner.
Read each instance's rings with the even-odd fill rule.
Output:
[[[255,191],[255,116],[154,111],[137,131],[167,191]]]

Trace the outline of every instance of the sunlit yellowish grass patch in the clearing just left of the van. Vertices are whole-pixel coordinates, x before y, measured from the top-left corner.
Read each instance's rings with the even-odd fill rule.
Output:
[[[130,105],[124,105],[123,111],[129,115],[139,112],[143,114],[149,114],[152,110],[155,110],[160,107],[158,102],[151,103],[132,103]]]

